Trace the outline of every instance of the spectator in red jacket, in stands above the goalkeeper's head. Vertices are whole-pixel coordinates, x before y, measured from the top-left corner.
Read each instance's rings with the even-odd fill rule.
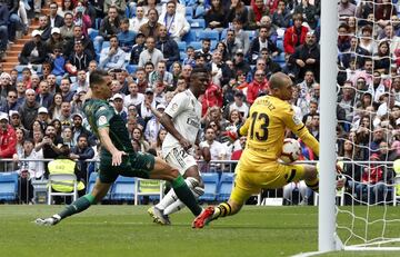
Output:
[[[308,28],[302,26],[302,16],[300,13],[293,14],[293,26],[284,31],[283,49],[284,53],[292,55],[297,47],[306,42]]]

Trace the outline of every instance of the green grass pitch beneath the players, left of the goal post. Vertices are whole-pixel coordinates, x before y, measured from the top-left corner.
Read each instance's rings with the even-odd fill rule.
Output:
[[[39,227],[32,223],[37,217],[50,216],[62,206],[2,205],[0,256],[291,256],[318,248],[317,207],[246,206],[239,215],[221,218],[201,230],[191,228],[188,210],[171,216],[172,226],[153,224],[148,207],[98,205],[54,227]],[[391,209],[400,216],[399,208]],[[400,234],[400,225],[393,226],[393,231]],[[400,253],[321,256],[392,257]]]

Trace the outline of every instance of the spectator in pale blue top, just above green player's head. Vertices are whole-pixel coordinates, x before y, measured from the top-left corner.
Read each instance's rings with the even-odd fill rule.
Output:
[[[110,37],[110,48],[103,48],[100,53],[99,67],[104,70],[122,69],[126,52],[118,46],[117,36]]]

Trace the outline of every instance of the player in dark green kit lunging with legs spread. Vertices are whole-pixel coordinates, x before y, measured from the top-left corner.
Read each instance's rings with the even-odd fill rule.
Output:
[[[134,152],[126,122],[107,101],[112,95],[112,87],[111,76],[107,72],[93,71],[90,75],[91,99],[84,102],[83,110],[93,132],[101,141],[100,171],[93,190],[67,206],[61,212],[50,218],[38,218],[38,225],[56,225],[61,219],[81,212],[100,201],[119,175],[167,180],[171,182],[177,197],[194,216],[202,211],[177,169],[152,155]]]

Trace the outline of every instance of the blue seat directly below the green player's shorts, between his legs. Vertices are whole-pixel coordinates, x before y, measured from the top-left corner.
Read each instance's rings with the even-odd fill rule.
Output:
[[[133,201],[136,178],[119,176],[111,189],[111,200]]]

